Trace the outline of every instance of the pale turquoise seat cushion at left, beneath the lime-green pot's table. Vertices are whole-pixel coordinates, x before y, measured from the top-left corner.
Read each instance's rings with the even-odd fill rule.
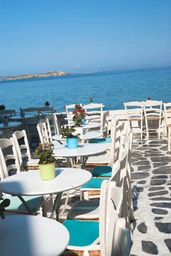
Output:
[[[10,205],[6,207],[6,212],[28,213],[26,207],[17,196],[3,196],[3,198],[8,198],[10,200]],[[22,196],[22,198],[26,201],[32,212],[37,212],[42,201],[42,195]]]

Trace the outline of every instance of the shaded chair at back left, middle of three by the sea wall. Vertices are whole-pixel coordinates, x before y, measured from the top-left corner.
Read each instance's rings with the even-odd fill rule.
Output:
[[[23,111],[27,114],[27,113],[31,113],[33,115],[35,115],[35,117],[32,117],[32,118],[29,118],[26,120],[26,125],[28,127],[28,131],[29,131],[29,137],[28,137],[28,140],[30,142],[30,140],[32,140],[32,135],[36,135],[37,136],[37,133],[35,132],[32,132],[31,133],[31,129],[29,128],[32,128],[33,126],[37,125],[38,124],[38,120],[39,120],[39,116],[38,116],[38,108],[23,108]]]

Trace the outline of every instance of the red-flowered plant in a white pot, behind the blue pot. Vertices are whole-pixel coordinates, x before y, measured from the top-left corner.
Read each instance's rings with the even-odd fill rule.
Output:
[[[75,105],[75,110],[72,111],[72,113],[74,114],[74,116],[72,118],[73,122],[75,122],[74,129],[75,129],[75,131],[77,131],[77,133],[80,133],[81,135],[83,135],[82,125],[84,125],[85,116],[87,116],[87,113],[78,104]]]

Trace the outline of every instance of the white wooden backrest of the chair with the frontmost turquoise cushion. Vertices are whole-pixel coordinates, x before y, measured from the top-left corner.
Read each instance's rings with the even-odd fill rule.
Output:
[[[101,197],[99,207],[99,236],[101,255],[105,255],[105,245],[109,222],[108,215],[115,212],[115,217],[119,218],[122,208],[123,193],[122,189],[116,187],[115,181],[104,180],[101,183]]]

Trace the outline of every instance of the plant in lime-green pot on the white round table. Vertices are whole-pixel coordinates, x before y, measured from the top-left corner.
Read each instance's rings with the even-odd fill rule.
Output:
[[[42,180],[55,179],[55,161],[52,157],[53,153],[52,143],[39,144],[34,153],[34,158],[39,158],[39,172]]]

